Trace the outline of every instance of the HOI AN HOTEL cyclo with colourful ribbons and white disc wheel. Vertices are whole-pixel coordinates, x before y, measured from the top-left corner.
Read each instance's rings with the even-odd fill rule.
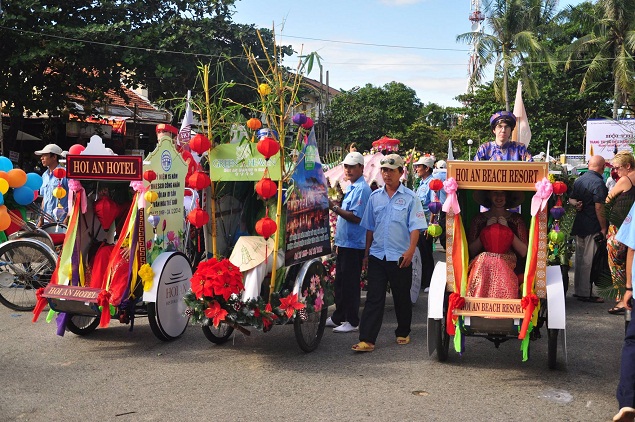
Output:
[[[99,136],[70,148],[68,228],[51,280],[37,290],[34,322],[49,305],[58,335],[86,335],[111,318],[132,329],[136,315],[147,315],[161,340],[185,331],[188,165],[175,149],[176,129],[160,126],[145,160],[113,154]]]

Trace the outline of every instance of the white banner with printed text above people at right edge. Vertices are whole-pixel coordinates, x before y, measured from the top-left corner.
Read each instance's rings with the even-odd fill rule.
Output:
[[[615,150],[631,151],[631,144],[635,143],[635,119],[587,120],[586,158],[591,155],[601,155],[610,160]],[[593,152],[593,154],[591,154]]]

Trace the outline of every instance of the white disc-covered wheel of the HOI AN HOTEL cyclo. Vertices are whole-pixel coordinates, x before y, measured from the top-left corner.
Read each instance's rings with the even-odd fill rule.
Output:
[[[152,263],[152,271],[152,289],[143,295],[148,322],[159,340],[171,341],[181,337],[189,321],[183,295],[190,288],[192,267],[181,252],[164,252]]]

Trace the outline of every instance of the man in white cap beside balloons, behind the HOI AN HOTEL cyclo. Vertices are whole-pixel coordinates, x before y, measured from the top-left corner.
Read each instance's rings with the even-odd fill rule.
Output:
[[[53,189],[61,186],[66,190],[66,192],[68,192],[68,180],[66,180],[65,177],[60,180],[57,177],[53,176],[53,170],[55,170],[57,167],[61,167],[59,161],[66,154],[59,146],[55,144],[48,144],[41,150],[35,151],[35,155],[40,156],[42,167],[46,169],[42,174],[42,187],[40,188],[40,196],[42,197],[42,211],[45,213],[45,215],[53,217],[53,211],[55,211],[58,205],[58,199],[53,196]],[[64,209],[63,215],[60,216],[60,221],[63,221],[64,218],[66,218],[66,214],[68,213],[68,195],[60,198],[59,203]],[[50,222],[55,223],[56,221],[53,220]],[[43,223],[44,217],[40,216],[40,219],[38,220],[38,226],[41,226]]]

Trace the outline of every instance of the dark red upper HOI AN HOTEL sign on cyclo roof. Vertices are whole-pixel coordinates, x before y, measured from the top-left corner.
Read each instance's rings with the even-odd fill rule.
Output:
[[[140,155],[66,156],[66,177],[69,179],[127,181],[141,180],[142,174]]]

